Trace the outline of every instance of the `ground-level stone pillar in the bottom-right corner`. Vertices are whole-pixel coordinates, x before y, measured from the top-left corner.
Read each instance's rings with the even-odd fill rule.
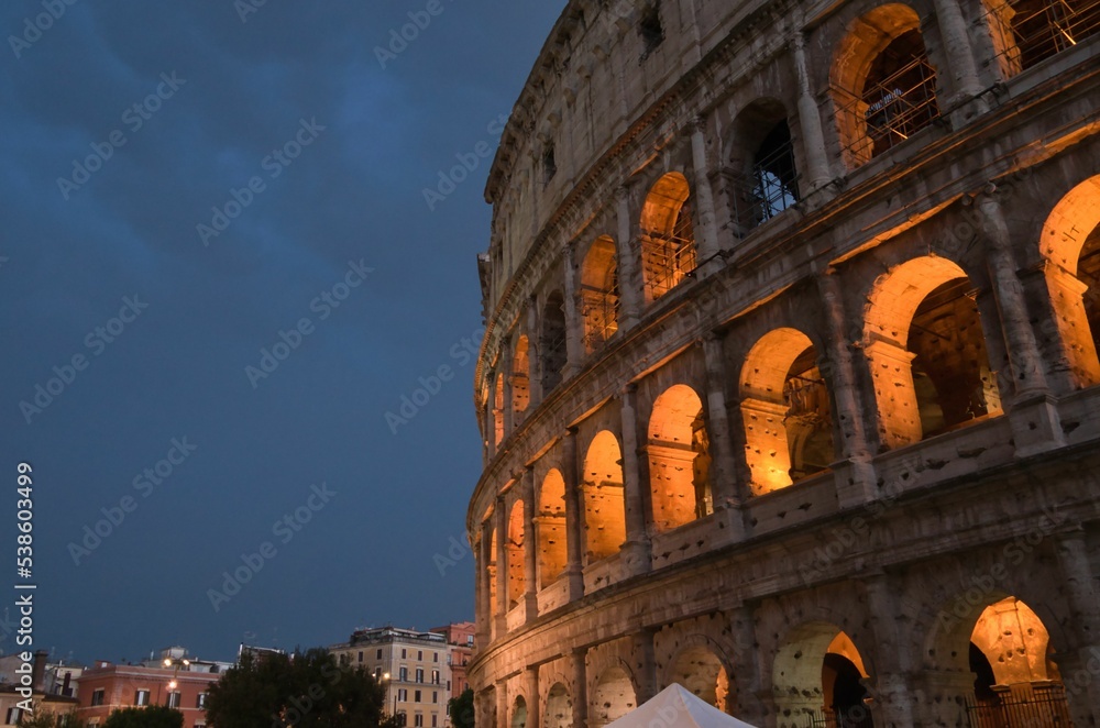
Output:
[[[1084,531],[1059,537],[1056,553],[1077,646],[1054,659],[1066,685],[1074,724],[1094,726],[1100,724],[1100,587]]]

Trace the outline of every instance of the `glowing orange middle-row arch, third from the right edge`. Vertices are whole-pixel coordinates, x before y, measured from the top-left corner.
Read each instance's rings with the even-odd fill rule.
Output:
[[[760,339],[745,361],[740,389],[754,494],[828,470],[834,460],[832,407],[817,350],[806,334],[777,329]]]

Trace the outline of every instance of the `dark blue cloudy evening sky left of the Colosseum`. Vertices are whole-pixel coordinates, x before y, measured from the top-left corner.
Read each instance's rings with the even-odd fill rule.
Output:
[[[564,0],[442,0],[385,68],[375,47],[427,0],[268,0],[242,21],[243,1],[46,0],[41,33],[41,0],[0,9],[20,38],[0,51],[0,584],[21,581],[25,460],[35,646],[55,658],[229,659],[473,617],[472,559],[441,575],[433,556],[480,472],[463,339],[488,161],[435,210],[424,188],[495,147]]]

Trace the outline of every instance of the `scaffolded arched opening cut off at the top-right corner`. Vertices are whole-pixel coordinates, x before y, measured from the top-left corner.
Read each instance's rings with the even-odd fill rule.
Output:
[[[1100,30],[1098,0],[985,0],[997,62],[1009,78]]]

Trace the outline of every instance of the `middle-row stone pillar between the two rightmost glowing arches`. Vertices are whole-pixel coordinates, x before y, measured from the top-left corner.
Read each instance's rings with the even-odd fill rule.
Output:
[[[1066,439],[1054,397],[1047,387],[1043,357],[1031,326],[1023,285],[1016,276],[1012,238],[1004,211],[994,197],[982,195],[980,199],[989,273],[1004,330],[1012,382],[1015,384],[1014,393],[1005,391],[1002,396],[1012,397],[1008,409],[1016,455],[1025,457],[1063,446]]]

